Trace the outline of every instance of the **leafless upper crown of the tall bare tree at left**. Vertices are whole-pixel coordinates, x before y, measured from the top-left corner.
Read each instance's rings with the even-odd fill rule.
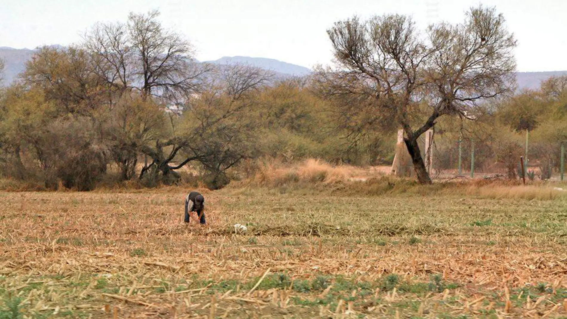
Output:
[[[193,58],[189,41],[166,30],[159,12],[130,13],[127,23],[98,23],[84,36],[95,72],[121,90],[179,102],[198,91],[210,66]]]

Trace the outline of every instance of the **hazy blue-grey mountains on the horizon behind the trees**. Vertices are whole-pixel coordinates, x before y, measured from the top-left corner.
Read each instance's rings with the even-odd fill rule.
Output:
[[[60,47],[59,45],[56,45]],[[31,59],[35,50],[31,49],[14,49],[9,47],[0,47],[0,59],[4,61],[5,67],[2,72],[3,81],[0,86],[5,86],[11,83],[19,73],[23,72],[26,68],[26,62]],[[271,70],[280,76],[302,76],[311,73],[311,70],[300,65],[295,65],[283,61],[274,60],[272,58],[263,57],[221,57],[214,61],[205,61],[213,64],[226,65],[234,63],[249,64]],[[540,82],[557,75],[567,75],[567,71],[553,71],[553,72],[517,72],[516,81],[518,83],[518,90],[522,89],[538,89]]]

